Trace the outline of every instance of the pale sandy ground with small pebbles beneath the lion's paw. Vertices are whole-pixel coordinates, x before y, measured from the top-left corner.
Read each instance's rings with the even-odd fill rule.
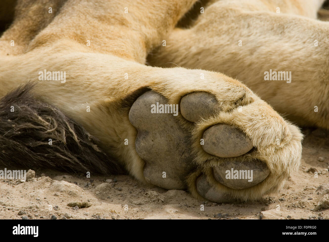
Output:
[[[304,129],[303,133],[298,173],[278,194],[257,202],[198,201],[185,191],[147,187],[128,175],[86,178],[35,170],[31,181],[0,181],[0,218],[62,219],[65,214],[69,219],[329,219],[329,208],[316,207],[318,203],[329,207],[329,131]],[[310,169],[321,174],[315,177]],[[72,202],[90,206],[75,210],[68,206]]]

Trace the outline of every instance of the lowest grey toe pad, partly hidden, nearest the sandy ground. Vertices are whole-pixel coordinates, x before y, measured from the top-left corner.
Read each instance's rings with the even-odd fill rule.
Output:
[[[202,197],[213,202],[229,203],[236,201],[236,199],[232,198],[229,194],[220,192],[210,186],[205,175],[199,176],[196,180],[196,190]]]

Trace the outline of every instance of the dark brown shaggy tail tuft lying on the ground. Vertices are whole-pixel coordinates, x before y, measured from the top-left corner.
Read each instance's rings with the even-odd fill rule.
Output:
[[[121,172],[95,137],[58,108],[35,99],[31,89],[27,84],[0,99],[0,166]]]

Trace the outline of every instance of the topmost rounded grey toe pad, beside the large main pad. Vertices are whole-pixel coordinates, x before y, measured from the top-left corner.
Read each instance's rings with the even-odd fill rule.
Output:
[[[219,103],[214,95],[198,92],[183,96],[180,108],[185,119],[196,122],[200,118],[209,118],[214,115],[219,110]]]

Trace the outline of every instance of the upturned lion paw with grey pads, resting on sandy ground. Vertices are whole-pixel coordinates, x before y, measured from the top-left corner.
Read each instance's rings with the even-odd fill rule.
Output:
[[[206,92],[186,94],[179,104],[154,91],[139,96],[129,120],[138,130],[135,148],[145,161],[146,180],[165,189],[189,188],[214,202],[256,199],[279,189],[299,164],[298,130],[265,103],[230,105],[223,110]],[[266,123],[275,125],[272,133]]]

